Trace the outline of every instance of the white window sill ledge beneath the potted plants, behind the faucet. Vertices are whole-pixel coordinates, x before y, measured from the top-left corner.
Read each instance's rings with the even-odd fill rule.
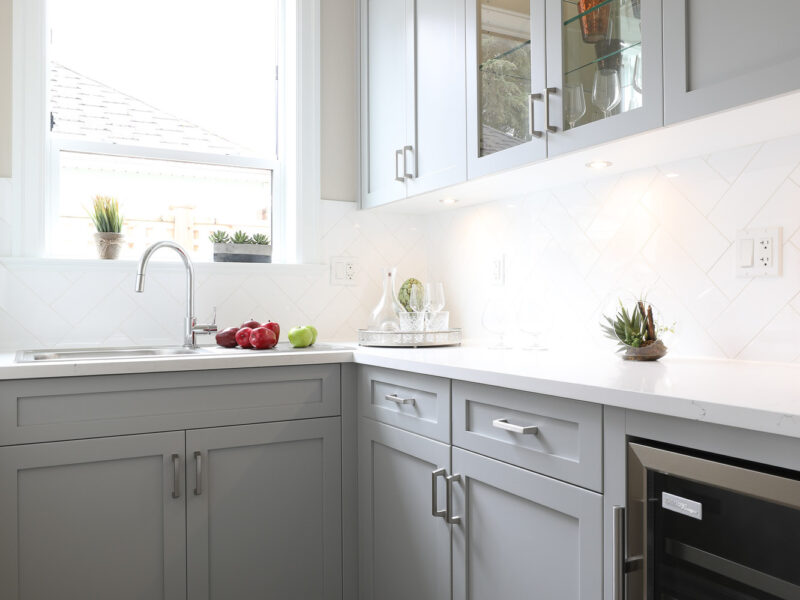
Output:
[[[168,255],[154,256],[153,262],[159,266],[183,271],[183,263]],[[292,275],[320,275],[328,270],[325,264],[286,264],[286,263],[215,263],[192,261],[198,273],[269,273]],[[18,258],[0,257],[0,265],[14,269],[65,269],[69,271],[128,271],[136,272],[138,260],[100,260],[98,258]]]

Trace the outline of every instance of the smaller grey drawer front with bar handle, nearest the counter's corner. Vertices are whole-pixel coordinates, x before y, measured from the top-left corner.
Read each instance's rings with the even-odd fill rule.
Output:
[[[450,443],[450,380],[379,367],[360,367],[361,416]]]

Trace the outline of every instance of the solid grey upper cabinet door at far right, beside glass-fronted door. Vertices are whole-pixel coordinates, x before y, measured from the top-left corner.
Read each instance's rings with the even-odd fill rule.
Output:
[[[665,122],[800,88],[798,22],[797,0],[664,2]]]

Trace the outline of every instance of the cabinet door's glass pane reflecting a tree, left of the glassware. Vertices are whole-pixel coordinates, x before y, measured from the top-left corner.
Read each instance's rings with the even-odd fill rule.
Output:
[[[478,86],[480,156],[531,140],[530,0],[482,0]]]

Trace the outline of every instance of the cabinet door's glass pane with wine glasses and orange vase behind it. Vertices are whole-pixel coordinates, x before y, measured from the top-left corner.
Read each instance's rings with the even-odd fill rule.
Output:
[[[641,2],[562,0],[566,129],[642,106]]]

